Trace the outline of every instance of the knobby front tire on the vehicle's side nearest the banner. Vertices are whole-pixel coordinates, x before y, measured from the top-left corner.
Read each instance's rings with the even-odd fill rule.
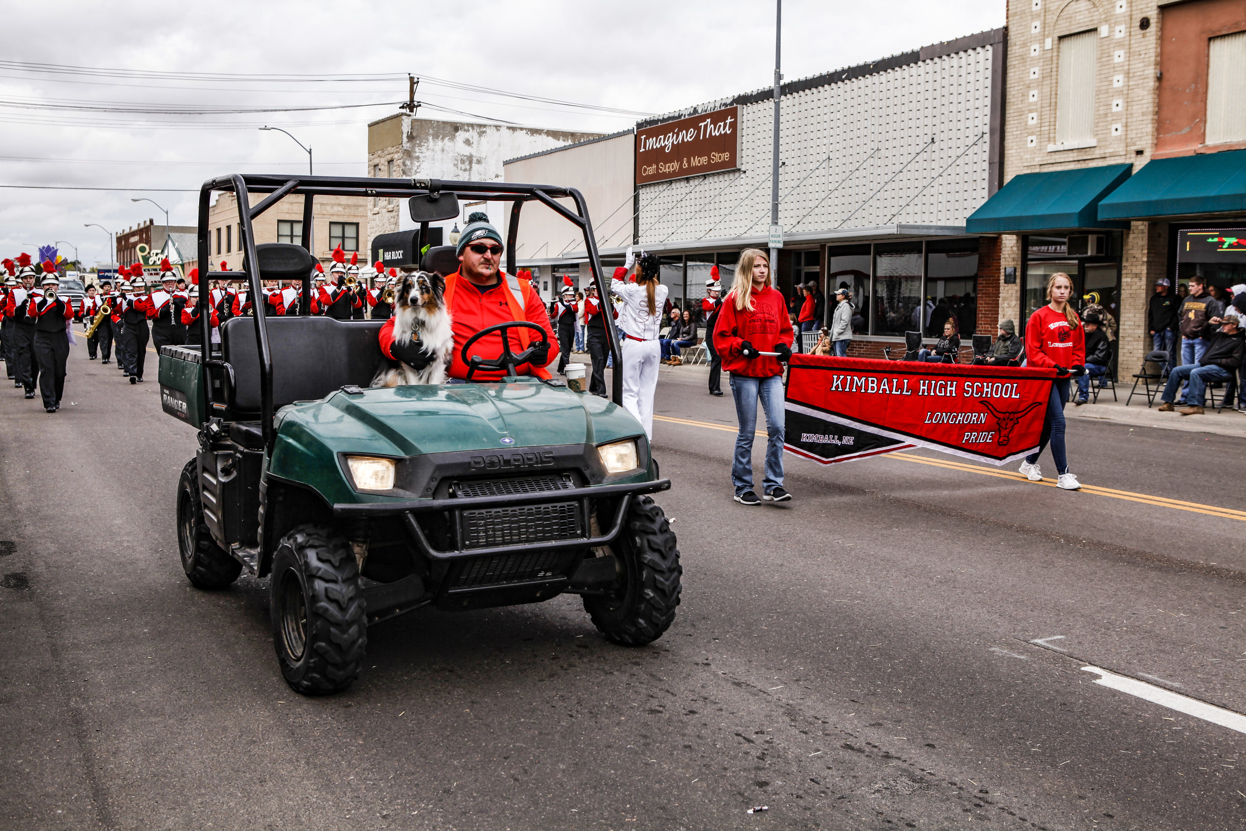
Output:
[[[682,591],[675,534],[653,500],[632,500],[623,529],[611,546],[622,559],[622,586],[612,597],[584,597],[593,625],[614,643],[639,647],[662,637],[675,619]]]

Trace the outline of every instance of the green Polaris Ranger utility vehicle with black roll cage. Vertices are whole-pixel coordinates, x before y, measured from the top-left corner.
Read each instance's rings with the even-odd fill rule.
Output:
[[[302,313],[265,315],[264,303],[253,303],[253,316],[226,320],[212,343],[208,282],[238,273],[203,273],[193,325],[208,350],[161,348],[162,407],[193,426],[199,442],[178,483],[178,546],[198,588],[227,587],[243,569],[269,578],[273,639],[289,685],[308,695],[345,689],[363,669],[368,627],[429,605],[455,612],[573,593],[611,640],[659,638],[674,620],[683,569],[675,534],[648,495],[670,482],[659,477],[640,424],[618,405],[621,374],[611,401],[517,376],[537,344],[520,354],[503,348],[492,361],[472,355],[486,334],[507,340],[512,324],[502,324],[461,350],[464,363],[503,371],[502,380],[369,389],[381,321],[309,314],[316,196],[407,198],[415,252],[430,223],[459,216],[460,194],[510,202],[508,274],[521,208],[540,202],[579,227],[607,297],[579,192],[219,177],[199,193],[199,263],[211,262],[208,203],[221,191],[237,196],[250,297],[262,297],[265,280],[298,280]],[[267,196],[250,206],[250,194]],[[303,244],[257,244],[254,219],[283,198],[302,201]],[[454,249],[434,248],[424,264],[439,255],[444,263],[447,253],[454,263]],[[613,324],[608,340],[618,365]]]

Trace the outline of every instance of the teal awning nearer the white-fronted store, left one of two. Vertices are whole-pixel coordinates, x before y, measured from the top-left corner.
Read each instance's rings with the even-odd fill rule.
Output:
[[[1125,228],[1125,224],[1099,218],[1099,201],[1120,187],[1133,169],[1133,164],[1105,164],[1014,176],[969,216],[964,229],[971,234],[1013,234],[1063,228]]]

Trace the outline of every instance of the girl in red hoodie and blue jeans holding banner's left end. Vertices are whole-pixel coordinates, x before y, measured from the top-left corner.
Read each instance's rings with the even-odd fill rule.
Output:
[[[759,505],[753,492],[753,437],[758,424],[758,399],[766,414],[766,477],[763,500],[786,502],[782,488],[784,390],[782,364],[791,359],[792,330],[787,303],[770,285],[770,258],[759,248],[746,248],[735,267],[735,284],[714,323],[714,350],[730,373],[731,397],[740,432],[735,437],[731,483],[735,501]],[[761,353],[778,353],[779,356]]]

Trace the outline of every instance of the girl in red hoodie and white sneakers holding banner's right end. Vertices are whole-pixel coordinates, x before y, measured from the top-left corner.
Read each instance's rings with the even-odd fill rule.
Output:
[[[1047,416],[1043,419],[1043,435],[1038,451],[1025,457],[1020,472],[1030,482],[1043,481],[1038,468],[1038,453],[1047,442],[1052,442],[1052,457],[1055,460],[1055,472],[1059,477],[1057,487],[1065,491],[1080,490],[1078,477],[1069,472],[1069,461],[1064,455],[1064,405],[1069,402],[1069,375],[1085,373],[1087,338],[1078,313],[1069,305],[1073,294],[1073,280],[1068,274],[1057,272],[1047,280],[1047,299],[1029,316],[1025,324],[1025,363],[1029,366],[1055,368],[1055,382],[1052,384],[1052,396],[1047,402]]]

